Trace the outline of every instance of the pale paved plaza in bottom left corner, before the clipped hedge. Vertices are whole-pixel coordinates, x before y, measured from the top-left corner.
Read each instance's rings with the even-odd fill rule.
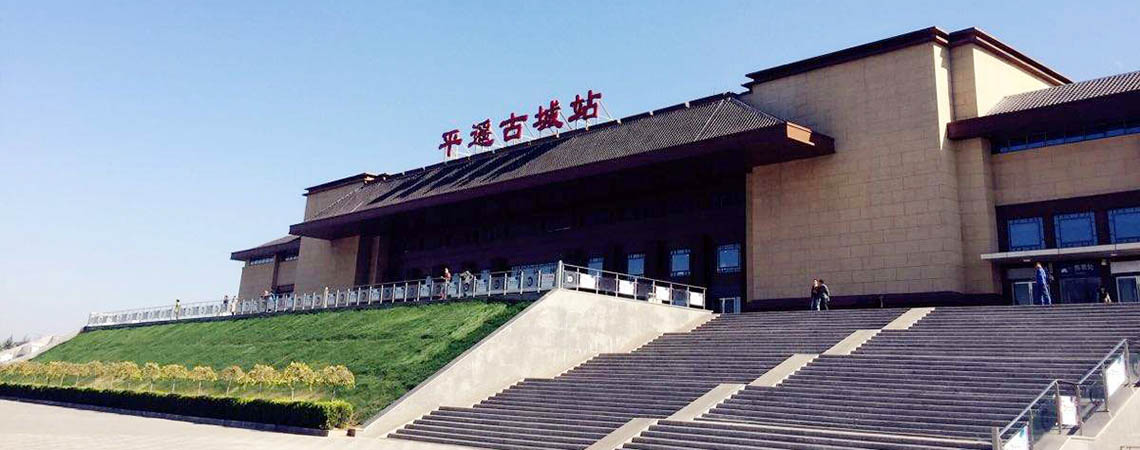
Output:
[[[329,437],[228,428],[178,420],[0,400],[0,449],[447,449],[386,439]],[[451,447],[451,449],[458,449]]]

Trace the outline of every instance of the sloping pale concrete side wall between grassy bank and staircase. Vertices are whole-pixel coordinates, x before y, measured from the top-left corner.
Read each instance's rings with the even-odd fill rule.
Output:
[[[555,289],[380,411],[363,435],[383,436],[441,406],[469,407],[522,378],[557,376],[598,353],[684,332],[709,311]]]

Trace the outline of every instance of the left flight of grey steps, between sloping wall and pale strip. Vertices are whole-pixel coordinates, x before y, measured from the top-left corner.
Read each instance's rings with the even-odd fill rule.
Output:
[[[723,383],[747,384],[793,353],[822,353],[904,310],[722,316],[630,353],[528,378],[471,408],[440,408],[390,437],[495,449],[585,449],[633,418],[666,418]]]

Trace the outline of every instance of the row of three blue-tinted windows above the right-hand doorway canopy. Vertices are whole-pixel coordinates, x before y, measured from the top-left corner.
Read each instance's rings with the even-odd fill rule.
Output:
[[[1058,248],[1097,245],[1097,220],[1092,212],[1053,215],[1053,237]],[[1042,218],[1011,219],[1007,222],[1011,252],[1045,248]],[[1140,207],[1108,211],[1110,244],[1140,243]]]

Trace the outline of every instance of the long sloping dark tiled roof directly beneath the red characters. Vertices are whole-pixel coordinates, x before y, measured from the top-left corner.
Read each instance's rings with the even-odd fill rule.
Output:
[[[380,178],[341,197],[311,220],[560,171],[608,159],[755,131],[785,122],[725,93]]]

